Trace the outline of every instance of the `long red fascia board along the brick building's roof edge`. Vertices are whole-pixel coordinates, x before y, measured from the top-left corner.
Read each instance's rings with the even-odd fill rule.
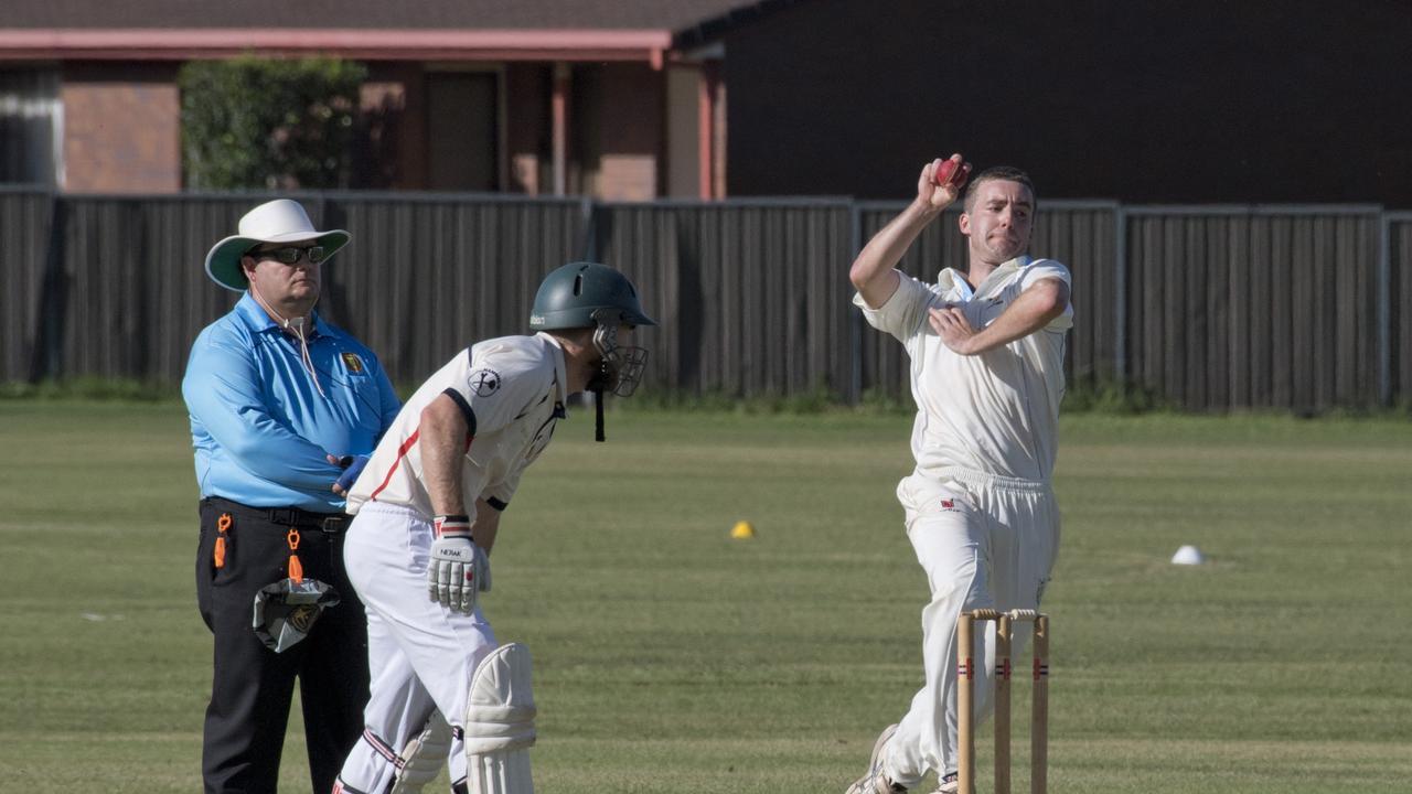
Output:
[[[650,61],[672,47],[666,30],[0,30],[0,61],[191,61],[337,55],[390,61]]]

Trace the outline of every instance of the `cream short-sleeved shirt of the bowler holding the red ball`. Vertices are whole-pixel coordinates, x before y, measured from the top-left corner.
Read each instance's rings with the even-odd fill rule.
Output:
[[[870,308],[863,295],[853,302],[873,328],[897,336],[911,357],[916,473],[945,479],[943,469],[962,468],[1049,482],[1059,448],[1063,346],[1073,307],[1029,336],[977,356],[962,356],[942,343],[926,309],[956,305],[979,331],[1041,278],[1072,285],[1069,268],[1049,259],[1017,257],[974,292],[952,268],[942,270],[935,285],[899,275],[897,292],[880,308]]]

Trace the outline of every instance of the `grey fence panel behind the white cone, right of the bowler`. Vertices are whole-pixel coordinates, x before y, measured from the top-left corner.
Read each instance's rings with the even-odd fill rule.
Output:
[[[1127,211],[1134,383],[1192,410],[1378,401],[1380,213]]]

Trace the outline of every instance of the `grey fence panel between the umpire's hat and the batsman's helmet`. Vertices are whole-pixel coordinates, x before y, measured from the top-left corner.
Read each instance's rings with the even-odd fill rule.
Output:
[[[582,259],[579,201],[337,194],[325,213],[353,243],[325,270],[319,312],[400,383],[480,339],[527,333],[539,281]]]

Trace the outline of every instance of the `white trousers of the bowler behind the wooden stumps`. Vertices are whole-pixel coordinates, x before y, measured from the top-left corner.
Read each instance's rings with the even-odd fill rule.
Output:
[[[946,469],[898,483],[907,535],[926,571],[932,600],[922,609],[925,684],[898,723],[884,771],[916,787],[928,770],[956,771],[956,619],[963,609],[1038,609],[1059,550],[1059,507],[1048,483]],[[983,623],[977,653],[976,721],[994,708],[994,623]],[[1017,630],[1018,658],[1029,633]]]

